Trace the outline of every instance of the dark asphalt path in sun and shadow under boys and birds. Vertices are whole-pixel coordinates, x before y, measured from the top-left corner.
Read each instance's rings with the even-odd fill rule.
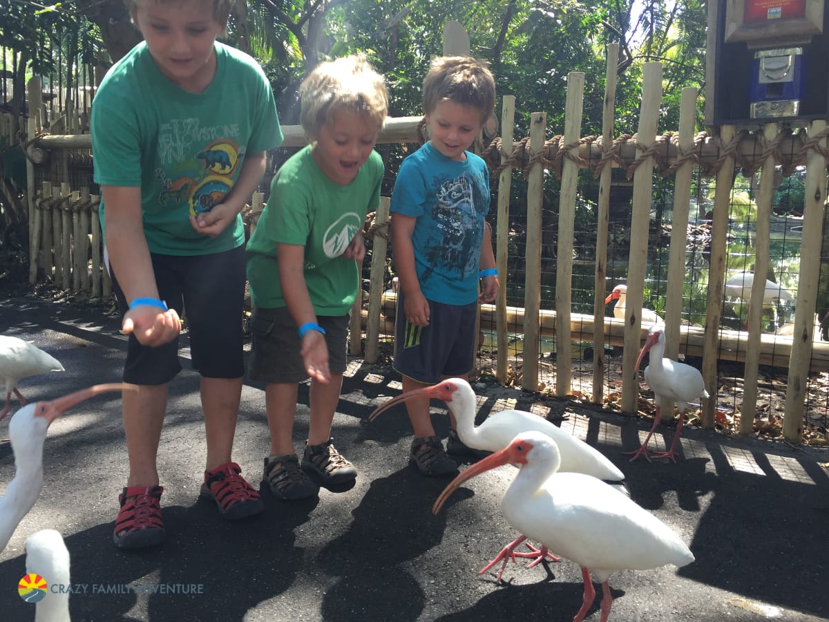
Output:
[[[0,292],[0,333],[31,340],[66,368],[22,381],[30,400],[120,380],[125,340],[117,318],[99,306]],[[17,583],[26,537],[47,527],[64,535],[70,551],[76,621],[572,620],[582,582],[570,561],[527,570],[521,560],[501,582],[494,572],[478,576],[517,535],[500,511],[515,470],[505,466],[464,484],[434,516],[432,503],[448,480],[424,478],[407,464],[411,431],[402,407],[366,421],[400,392],[400,382],[359,359],[347,374],[332,435],[360,471],[356,485],[293,503],[265,486],[264,513],[226,522],[199,496],[205,440],[198,376],[186,365],[171,384],[158,454],[167,541],[143,552],[112,543],[127,475],[119,396],[97,396],[56,420],[41,496],[0,552],[0,620],[34,619]],[[479,420],[522,397],[517,389],[479,389]],[[298,452],[307,404],[303,386]],[[435,402],[433,412],[445,438],[443,405]],[[829,620],[829,452],[686,428],[676,464],[631,464],[623,451],[638,446],[650,421],[570,402],[554,402],[551,412],[608,455],[626,474],[633,500],[696,556],[679,570],[614,572],[611,620]],[[662,426],[657,447],[673,431]],[[4,420],[0,436],[6,432]],[[268,446],[263,387],[246,382],[234,459],[252,484]],[[13,474],[11,449],[0,445],[0,491]],[[599,600],[587,620],[599,620]]]

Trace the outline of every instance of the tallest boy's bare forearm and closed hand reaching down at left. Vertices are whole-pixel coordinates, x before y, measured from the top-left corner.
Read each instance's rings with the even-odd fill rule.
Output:
[[[126,303],[137,298],[158,299],[158,287],[141,212],[141,188],[102,186],[104,231],[109,264],[124,291]],[[144,346],[160,346],[176,338],[181,322],[175,309],[138,305],[129,309],[122,323],[124,333],[134,333]]]

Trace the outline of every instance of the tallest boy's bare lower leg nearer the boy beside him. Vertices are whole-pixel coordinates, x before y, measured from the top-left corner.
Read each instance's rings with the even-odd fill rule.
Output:
[[[208,471],[230,462],[241,395],[241,378],[201,377],[201,410],[205,415]]]

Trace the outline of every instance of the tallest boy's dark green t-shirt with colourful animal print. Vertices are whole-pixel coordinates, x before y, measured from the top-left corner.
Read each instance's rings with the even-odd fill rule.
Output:
[[[264,71],[244,52],[216,42],[216,75],[201,93],[158,70],[139,43],[112,66],[92,105],[95,182],[141,187],[144,236],[164,255],[206,255],[245,243],[240,216],[211,238],[190,215],[220,203],[239,177],[245,153],[282,143]],[[104,226],[104,202],[100,205]]]

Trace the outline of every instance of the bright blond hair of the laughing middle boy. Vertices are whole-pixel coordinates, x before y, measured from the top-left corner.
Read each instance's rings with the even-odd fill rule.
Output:
[[[379,131],[389,110],[383,76],[363,54],[320,63],[299,86],[299,97],[299,123],[308,138],[316,137],[322,125],[332,123],[341,110],[366,115]]]

